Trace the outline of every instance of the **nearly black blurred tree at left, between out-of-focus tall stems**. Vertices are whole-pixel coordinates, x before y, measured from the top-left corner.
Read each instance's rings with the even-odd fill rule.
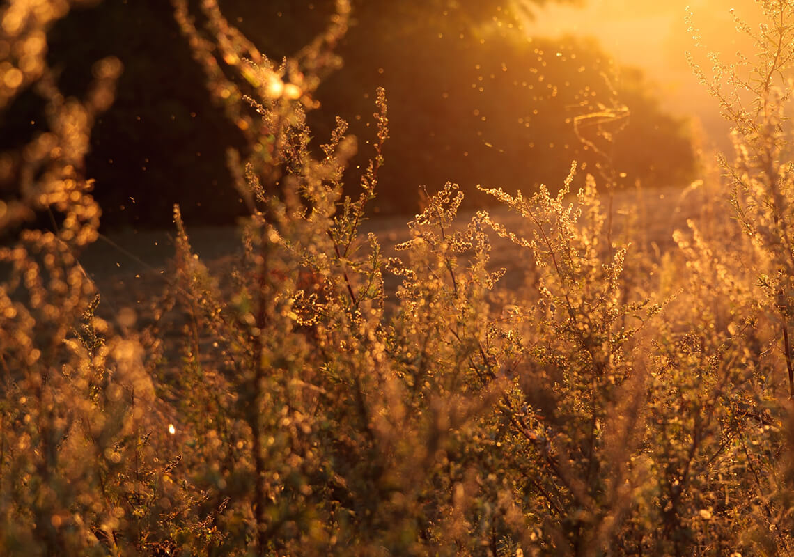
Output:
[[[125,69],[87,157],[103,225],[171,225],[175,202],[194,221],[229,221],[241,204],[224,149],[243,141],[210,101],[170,3],[106,0],[73,10],[52,30],[49,58],[66,94],[88,82],[85,60],[108,55]]]

